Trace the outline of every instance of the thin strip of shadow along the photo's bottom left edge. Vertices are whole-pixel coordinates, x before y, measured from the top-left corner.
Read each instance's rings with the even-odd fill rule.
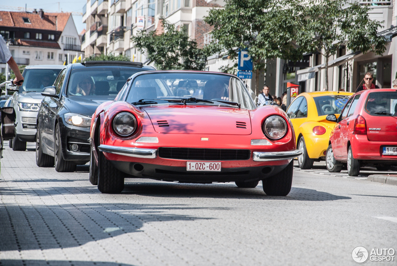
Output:
[[[76,261],[76,260],[1,260],[0,266],[133,266],[117,262]]]

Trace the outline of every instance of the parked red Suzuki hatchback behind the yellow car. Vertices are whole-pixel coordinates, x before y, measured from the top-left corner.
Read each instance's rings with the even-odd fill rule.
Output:
[[[354,94],[336,121],[326,152],[330,172],[340,172],[347,163],[350,176],[361,166],[388,170],[397,166],[397,90],[372,89]]]

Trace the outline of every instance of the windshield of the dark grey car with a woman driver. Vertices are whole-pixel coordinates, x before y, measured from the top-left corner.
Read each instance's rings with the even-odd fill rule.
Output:
[[[73,69],[66,93],[73,96],[114,99],[127,79],[139,71],[142,70],[131,67]]]

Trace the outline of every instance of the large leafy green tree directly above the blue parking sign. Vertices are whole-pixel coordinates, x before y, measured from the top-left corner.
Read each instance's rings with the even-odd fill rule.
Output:
[[[214,26],[212,38],[218,49],[236,59],[238,48],[246,49],[255,72],[255,94],[259,92],[259,71],[265,59],[299,60],[304,51],[293,44],[296,19],[288,6],[293,0],[225,0],[224,8],[212,8],[204,21]],[[237,67],[237,63],[235,64]]]

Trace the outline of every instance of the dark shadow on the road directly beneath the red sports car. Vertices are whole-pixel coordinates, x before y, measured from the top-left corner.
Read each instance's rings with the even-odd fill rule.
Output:
[[[233,184],[233,185],[232,185]],[[217,198],[217,199],[279,199],[279,200],[340,200],[351,199],[333,195],[328,192],[292,187],[286,197],[268,196],[262,186],[254,189],[243,189],[230,184],[179,184],[179,183],[125,183],[123,194],[137,194],[149,197],[177,197],[177,198]]]

